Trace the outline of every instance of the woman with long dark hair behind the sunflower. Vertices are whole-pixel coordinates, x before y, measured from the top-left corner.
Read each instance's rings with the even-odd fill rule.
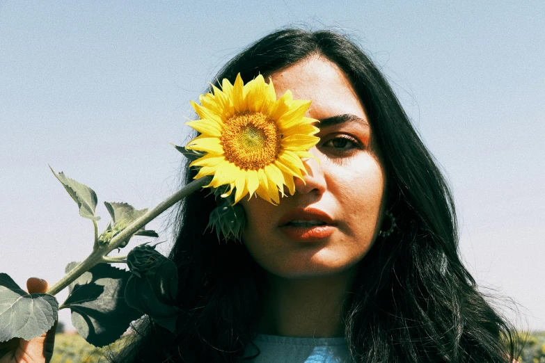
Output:
[[[170,256],[177,332],[143,323],[114,361],[512,362],[514,330],[459,259],[448,186],[361,49],[331,31],[288,29],[216,80],[238,73],[313,101],[315,159],[278,206],[241,202],[243,243],[203,234],[209,191],[187,198]]]

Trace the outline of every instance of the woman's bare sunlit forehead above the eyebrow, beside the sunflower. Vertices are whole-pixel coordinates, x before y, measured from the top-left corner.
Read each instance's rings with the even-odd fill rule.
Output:
[[[308,117],[321,120],[352,114],[366,120],[365,110],[347,76],[335,63],[313,56],[271,74],[276,97],[291,90],[294,99],[310,99]]]

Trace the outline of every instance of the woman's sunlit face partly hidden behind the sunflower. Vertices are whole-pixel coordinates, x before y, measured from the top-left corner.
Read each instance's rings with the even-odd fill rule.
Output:
[[[241,201],[246,248],[266,271],[281,277],[317,277],[360,261],[379,232],[386,180],[370,124],[354,88],[337,65],[307,58],[271,75],[276,95],[310,99],[307,116],[321,122],[319,143],[305,161],[308,175],[294,195],[274,206],[258,197]]]

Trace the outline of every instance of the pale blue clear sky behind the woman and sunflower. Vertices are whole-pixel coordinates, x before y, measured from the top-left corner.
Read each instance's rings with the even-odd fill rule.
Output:
[[[0,271],[56,282],[92,248],[48,164],[95,189],[101,228],[104,200],[153,207],[219,67],[279,27],[328,28],[368,51],[439,161],[480,287],[545,330],[543,19],[542,1],[0,1]],[[168,246],[168,217],[150,227]]]

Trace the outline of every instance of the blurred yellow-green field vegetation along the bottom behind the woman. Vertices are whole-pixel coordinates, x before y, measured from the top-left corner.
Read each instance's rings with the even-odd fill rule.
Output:
[[[519,362],[545,363],[545,332],[533,332],[528,336],[520,333],[519,337],[526,340]],[[104,348],[96,348],[79,334],[57,334],[51,363],[107,363],[104,352],[116,351],[125,344],[125,339],[126,337]]]

